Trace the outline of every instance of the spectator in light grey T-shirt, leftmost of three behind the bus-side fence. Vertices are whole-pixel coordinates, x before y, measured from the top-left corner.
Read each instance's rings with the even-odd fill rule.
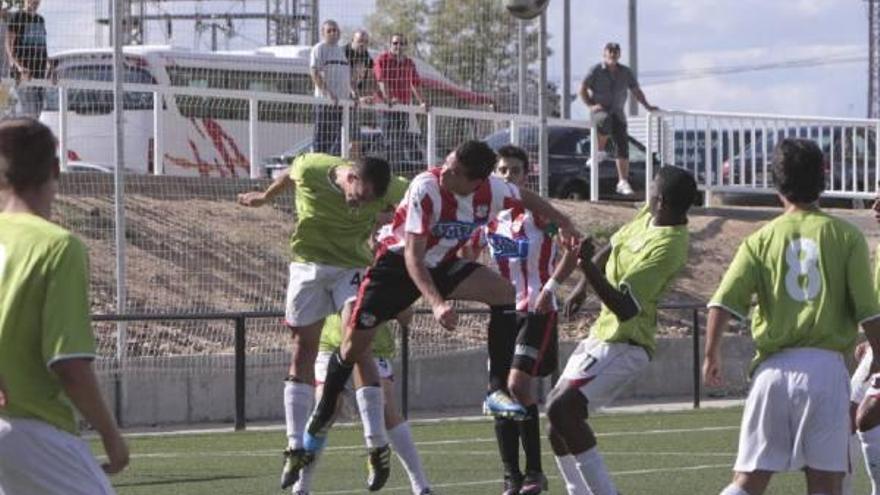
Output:
[[[330,105],[315,105],[315,153],[339,155],[342,107],[339,100],[350,98],[351,69],[345,50],[339,46],[339,25],[327,20],[321,25],[321,42],[312,47],[309,70],[315,83],[315,97],[330,100]]]

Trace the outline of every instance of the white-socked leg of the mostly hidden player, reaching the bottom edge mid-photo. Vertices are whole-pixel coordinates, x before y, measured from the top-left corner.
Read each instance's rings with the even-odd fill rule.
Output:
[[[377,359],[376,361],[379,373],[382,375],[382,393],[385,395],[385,427],[388,430],[391,447],[409,476],[413,494],[430,494],[432,493],[431,486],[422,467],[422,459],[416,450],[409,423],[400,415],[397,401],[394,398],[394,373],[391,369],[391,363],[386,359]]]

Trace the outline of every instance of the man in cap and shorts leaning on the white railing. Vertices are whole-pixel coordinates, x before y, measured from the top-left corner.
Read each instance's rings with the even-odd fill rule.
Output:
[[[591,162],[598,166],[605,158],[605,143],[610,135],[617,158],[617,193],[631,196],[633,190],[629,184],[629,143],[624,109],[627,92],[632,91],[636,100],[648,110],[653,112],[658,108],[648,103],[635,74],[619,60],[620,45],[607,43],[602,63],[594,65],[581,83],[580,96],[590,109],[593,124],[599,131],[599,153],[591,158]]]

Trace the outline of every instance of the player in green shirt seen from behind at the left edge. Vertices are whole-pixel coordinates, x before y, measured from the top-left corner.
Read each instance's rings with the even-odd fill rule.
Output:
[[[107,474],[128,447],[92,368],[86,246],[49,218],[59,173],[48,127],[0,123],[0,493],[111,495]],[[103,466],[76,412],[98,432]]]

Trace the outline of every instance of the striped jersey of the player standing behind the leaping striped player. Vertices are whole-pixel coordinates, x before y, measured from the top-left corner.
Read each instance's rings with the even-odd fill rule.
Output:
[[[488,245],[499,273],[516,288],[517,311],[536,311],[538,294],[558,261],[549,225],[531,211],[512,208],[475,233],[473,243],[479,250]]]

